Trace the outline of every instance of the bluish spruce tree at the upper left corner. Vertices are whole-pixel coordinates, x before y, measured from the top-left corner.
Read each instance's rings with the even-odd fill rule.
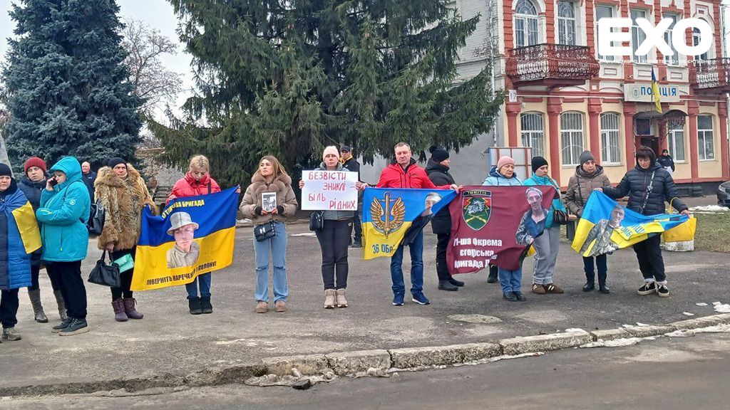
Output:
[[[99,166],[134,162],[139,98],[126,82],[126,54],[114,0],[20,0],[3,77],[12,163],[29,156],[49,166],[72,155]]]

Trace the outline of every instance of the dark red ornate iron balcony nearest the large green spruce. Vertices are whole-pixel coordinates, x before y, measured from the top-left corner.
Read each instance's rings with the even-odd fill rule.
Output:
[[[505,71],[515,86],[581,85],[600,69],[588,47],[539,44],[507,51]]]

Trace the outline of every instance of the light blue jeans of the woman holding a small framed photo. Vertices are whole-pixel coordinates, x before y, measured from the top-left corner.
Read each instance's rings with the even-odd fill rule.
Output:
[[[274,265],[274,303],[286,301],[289,289],[286,282],[286,227],[283,222],[274,223],[272,238],[256,241],[253,250],[256,254],[256,301],[269,302],[269,252]]]

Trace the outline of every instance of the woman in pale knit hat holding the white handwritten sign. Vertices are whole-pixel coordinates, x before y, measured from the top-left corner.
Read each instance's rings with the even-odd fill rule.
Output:
[[[331,145],[322,153],[323,161],[320,171],[347,171],[339,162],[337,147]],[[304,181],[299,181],[299,188]],[[358,190],[365,189],[366,184],[357,182]],[[324,282],[324,309],[347,307],[345,289],[347,288],[347,247],[350,242],[350,231],[353,227],[353,211],[324,211],[324,225],[317,231],[317,239],[322,250],[322,281]],[[337,271],[337,274],[335,274]]]

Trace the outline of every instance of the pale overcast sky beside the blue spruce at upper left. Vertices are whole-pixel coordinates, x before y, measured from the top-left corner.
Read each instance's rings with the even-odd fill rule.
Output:
[[[0,0],[0,59],[4,61],[7,53],[7,38],[13,36],[15,22],[10,19],[8,12],[10,4],[15,0]],[[120,7],[121,18],[134,18],[142,20],[149,26],[161,31],[161,34],[178,42],[177,18],[175,18],[172,5],[166,0],[117,0]],[[172,71],[183,74],[183,88],[190,90],[193,87],[193,80],[190,69],[191,56],[183,53],[183,45],[179,45],[177,55],[165,55],[165,65]],[[180,107],[189,91],[183,92],[178,98],[177,107]],[[159,118],[160,120],[162,118]]]

